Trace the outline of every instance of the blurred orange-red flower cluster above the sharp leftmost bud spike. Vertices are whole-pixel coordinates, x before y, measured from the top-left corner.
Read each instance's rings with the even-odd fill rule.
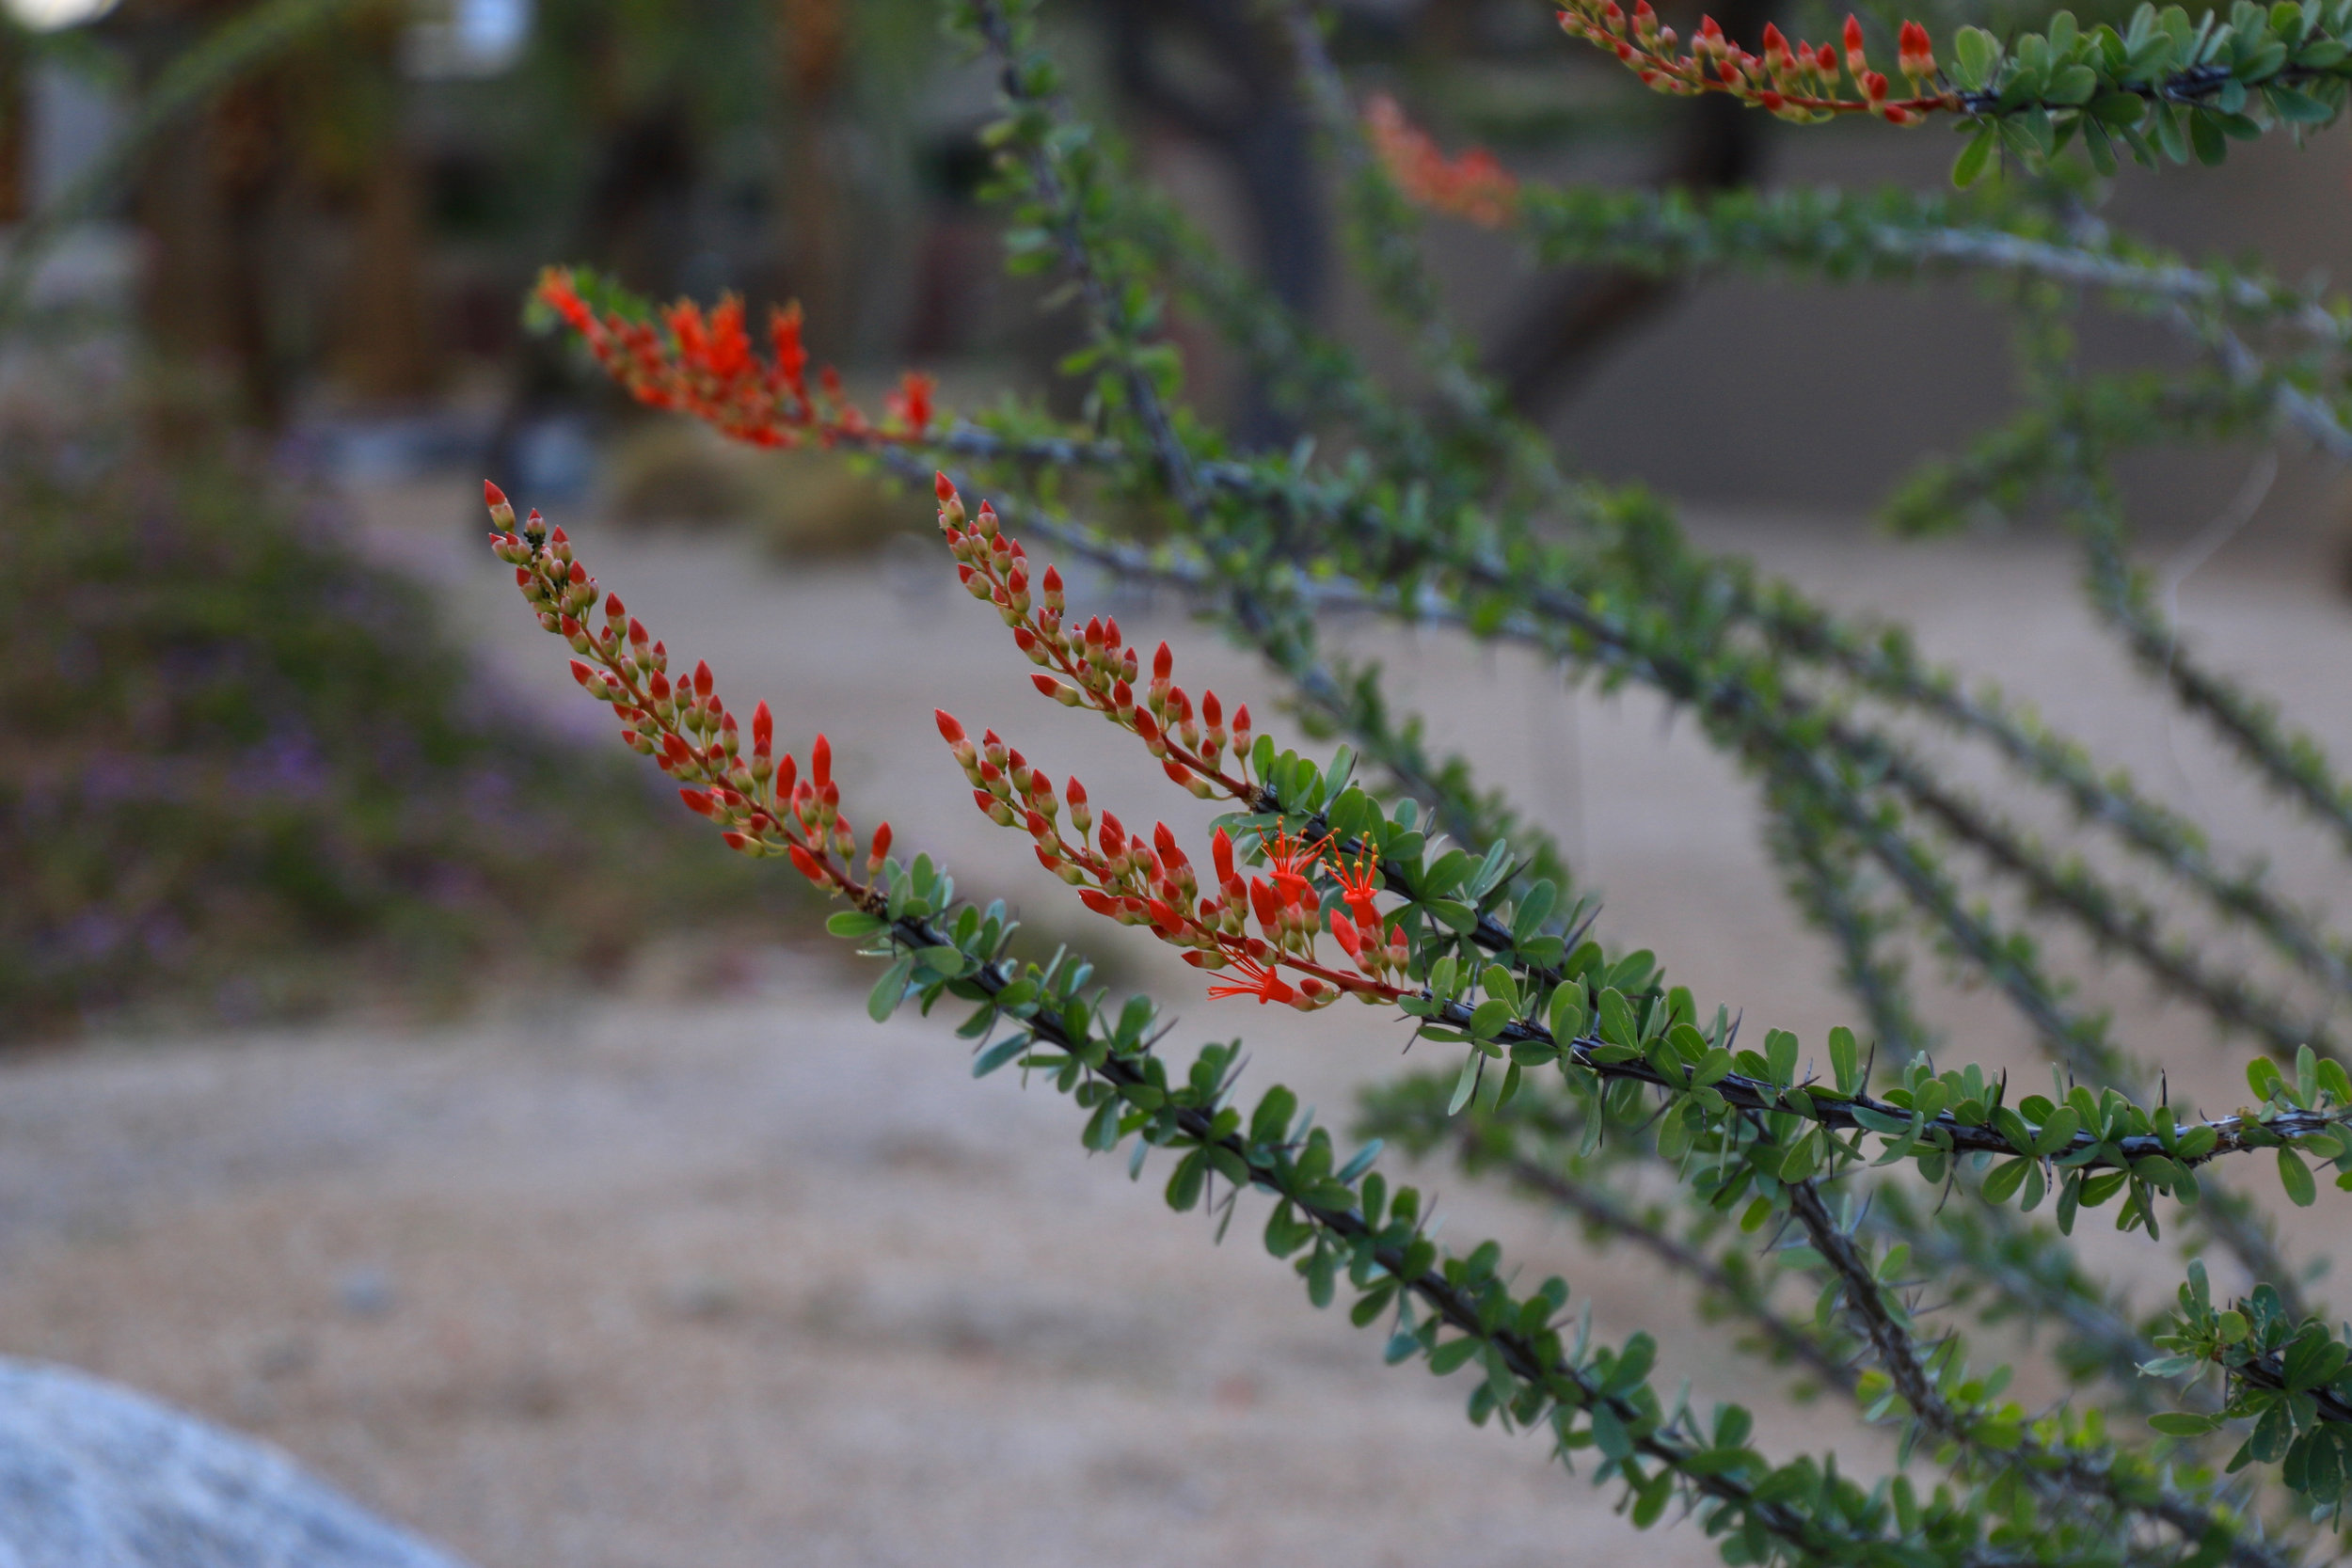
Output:
[[[913,442],[931,428],[934,381],[915,371],[906,371],[884,400],[882,423],[849,402],[830,364],[816,371],[811,390],[797,303],[769,315],[769,357],[762,360],[743,324],[743,301],[731,294],[708,313],[682,299],[663,310],[659,327],[597,313],[564,268],[539,275],[539,299],[637,402],[691,414],[755,447]]]

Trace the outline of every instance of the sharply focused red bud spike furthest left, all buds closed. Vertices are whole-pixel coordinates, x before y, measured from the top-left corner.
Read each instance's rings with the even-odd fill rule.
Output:
[[[536,510],[517,531],[515,508],[487,480],[482,501],[499,529],[489,536],[492,552],[513,564],[515,585],[539,611],[539,625],[581,654],[572,661],[572,679],[600,703],[612,703],[626,726],[621,741],[682,780],[680,799],[717,823],[729,849],[790,856],[816,886],[870,903],[868,889],[849,875],[858,842],[842,816],[842,788],[833,780],[826,738],[816,736],[809,773],[802,776],[790,752],[774,757],[776,724],[760,703],[750,715],[746,757],[741,724],[720,701],[708,663],[673,682],[668,646],[647,635],[619,595],[604,595],[602,625],[590,625],[597,585],[564,531],[548,531]],[[868,877],[887,853],[889,823],[880,823],[866,849]]]

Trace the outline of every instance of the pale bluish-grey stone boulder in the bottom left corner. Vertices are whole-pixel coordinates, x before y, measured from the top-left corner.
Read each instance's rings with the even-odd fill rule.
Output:
[[[0,1568],[463,1568],[287,1455],[0,1359]]]

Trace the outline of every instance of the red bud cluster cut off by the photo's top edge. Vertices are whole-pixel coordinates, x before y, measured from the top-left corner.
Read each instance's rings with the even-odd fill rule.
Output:
[[[1889,96],[1886,78],[1870,68],[1863,24],[1853,16],[1846,16],[1844,49],[1802,40],[1792,45],[1778,26],[1764,24],[1762,54],[1748,54],[1726,38],[1715,16],[1703,16],[1691,52],[1677,54],[1675,28],[1658,26],[1649,0],[1637,0],[1632,16],[1618,0],[1569,0],[1559,12],[1559,28],[1616,54],[1644,87],[1670,94],[1724,92],[1783,120],[1879,115],[1891,125],[1919,125],[1938,108],[1962,108],[1957,94],[1938,89],[1936,47],[1917,21],[1903,24],[1896,47],[1896,71],[1912,89],[1907,99]],[[1839,73],[1858,96],[1839,94]]]

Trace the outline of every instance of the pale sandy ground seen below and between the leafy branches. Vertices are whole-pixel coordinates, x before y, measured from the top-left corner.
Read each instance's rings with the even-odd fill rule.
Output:
[[[461,484],[374,494],[365,512],[376,548],[442,585],[499,682],[602,729],[560,646],[473,555]],[[1703,531],[1912,618],[1936,654],[2272,853],[2298,896],[2340,891],[2319,839],[2230,778],[2089,630],[2063,550],[1898,548],[1771,517]],[[741,705],[769,696],[795,743],[830,729],[861,818],[894,816],[967,891],[1134,952],[1063,910],[1018,835],[978,820],[929,710],[1000,724],[1040,759],[1087,757],[1096,799],[1131,802],[1129,818],[1167,811],[1169,790],[1030,696],[1002,628],[941,588],[936,559],[779,571],[727,541],[579,534]],[[2218,661],[2347,755],[2336,548],[2258,522],[2180,607]],[[1120,616],[1145,637],[1181,630],[1171,607]],[[1183,646],[1228,696],[1265,689],[1207,632]],[[1616,940],[1809,1041],[1849,1016],[1778,900],[1748,795],[1689,724],[1632,696],[1562,701],[1510,656],[1383,646],[1437,736],[1475,745],[1562,832]],[[1254,1081],[1298,1084],[1341,1121],[1402,1044],[1392,1025],[1211,1006],[1150,954],[1129,973],[1202,1034],[1249,1027]],[[433,1032],[350,1023],[9,1063],[0,1352],[268,1436],[482,1568],[1712,1561],[1696,1530],[1635,1544],[1541,1443],[1468,1432],[1468,1387],[1383,1368],[1376,1333],[1310,1312],[1263,1255],[1258,1213],[1211,1246],[1150,1180],[1087,1159],[1051,1095],[974,1084],[962,1048],[915,1018],[875,1030],[854,980],[833,954],[783,947],[703,994],[647,973]],[[1992,999],[1938,1001],[1955,1053],[2032,1063]],[[2213,1051],[2131,985],[2112,1001],[2173,1067],[2176,1098],[2234,1103],[2241,1048]],[[1700,1396],[1778,1403],[1670,1284],[1432,1175],[1451,1241],[1501,1234],[1529,1276],[1564,1272],[1604,1333],[1661,1333]],[[2298,1234],[2324,1237],[2324,1218]],[[2169,1248],[2093,1248],[2145,1279],[2178,1267]],[[1851,1439],[1830,1410],[1771,1413],[1773,1448],[1813,1441]]]

